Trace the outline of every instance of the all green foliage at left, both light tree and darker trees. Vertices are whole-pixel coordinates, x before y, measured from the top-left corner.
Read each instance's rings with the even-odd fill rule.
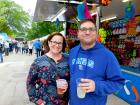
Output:
[[[21,6],[11,0],[0,0],[0,32],[13,37],[27,35],[26,38],[32,40],[63,30],[62,23],[33,22],[29,28],[29,22],[30,16]]]

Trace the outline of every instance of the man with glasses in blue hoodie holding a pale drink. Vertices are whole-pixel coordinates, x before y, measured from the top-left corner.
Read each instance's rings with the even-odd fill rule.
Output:
[[[119,91],[124,85],[116,57],[96,41],[97,36],[92,20],[79,23],[80,45],[71,49],[69,56],[70,105],[105,105],[107,95]],[[78,96],[79,87],[80,93],[85,92],[85,95]]]

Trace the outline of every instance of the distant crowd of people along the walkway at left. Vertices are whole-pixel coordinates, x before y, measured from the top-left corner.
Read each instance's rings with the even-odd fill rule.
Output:
[[[43,42],[39,39],[35,41],[3,41],[0,40],[0,63],[3,63],[4,56],[9,56],[10,53],[15,54],[36,54],[37,57],[44,54]]]

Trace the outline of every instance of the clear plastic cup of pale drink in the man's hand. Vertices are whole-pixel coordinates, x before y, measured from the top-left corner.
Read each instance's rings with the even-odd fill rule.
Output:
[[[78,98],[85,98],[86,92],[82,89],[82,87],[79,86],[79,83],[81,83],[81,78],[78,78],[76,80],[76,84],[77,84],[77,96],[78,96]]]

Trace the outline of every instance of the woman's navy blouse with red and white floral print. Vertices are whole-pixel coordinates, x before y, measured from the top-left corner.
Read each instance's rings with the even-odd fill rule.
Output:
[[[35,59],[27,78],[29,100],[36,105],[68,105],[68,90],[63,95],[57,94],[56,79],[69,82],[68,56],[63,55],[56,63],[52,58],[43,55]]]

